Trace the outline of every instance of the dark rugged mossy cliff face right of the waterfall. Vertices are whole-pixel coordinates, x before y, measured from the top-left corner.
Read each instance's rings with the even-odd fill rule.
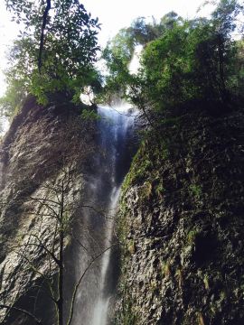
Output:
[[[118,324],[244,323],[243,117],[192,112],[141,145],[120,200]]]

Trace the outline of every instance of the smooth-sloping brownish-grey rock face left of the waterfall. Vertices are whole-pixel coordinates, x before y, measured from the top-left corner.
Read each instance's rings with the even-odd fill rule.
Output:
[[[65,198],[72,217],[80,201],[84,162],[89,158],[93,136],[92,126],[81,122],[80,110],[67,103],[41,107],[34,98],[28,98],[14,117],[1,146],[1,305],[35,308],[38,315],[42,304],[45,310],[51,304],[47,298],[43,302],[37,287],[42,274],[55,273],[54,261],[43,250],[45,246],[55,252],[57,247],[57,223],[50,211],[53,208],[59,213],[59,206],[52,201],[59,200],[59,186],[69,174]],[[42,299],[33,302],[30,297],[33,292],[36,297],[38,290]],[[0,308],[1,323],[33,324],[28,315],[7,311]],[[48,318],[46,312],[44,324],[50,323]]]

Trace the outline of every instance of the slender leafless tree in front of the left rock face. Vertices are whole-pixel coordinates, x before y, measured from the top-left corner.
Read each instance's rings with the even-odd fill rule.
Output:
[[[79,241],[78,238],[72,237],[73,234],[71,232],[70,225],[72,223],[73,215],[77,209],[88,208],[88,206],[84,205],[75,205],[73,201],[68,199],[71,184],[70,180],[72,177],[71,174],[74,172],[72,168],[73,166],[70,164],[70,166],[63,169],[63,174],[56,183],[47,181],[42,185],[40,190],[47,190],[48,197],[39,197],[34,195],[27,202],[27,207],[33,205],[35,206],[35,210],[28,209],[26,207],[28,209],[28,212],[26,212],[27,214],[34,214],[37,218],[42,218],[43,222],[46,222],[46,218],[51,218],[54,228],[49,235],[50,241],[46,243],[39,233],[27,233],[24,234],[25,241],[22,245],[11,246],[9,248],[14,255],[17,255],[21,260],[24,261],[25,265],[27,265],[27,268],[29,269],[29,273],[33,273],[42,281],[42,285],[39,287],[39,290],[44,290],[51,298],[53,305],[55,306],[58,325],[64,324],[64,307],[67,308],[67,306],[64,306],[65,247],[67,246],[68,237],[71,237],[72,240]],[[38,192],[40,190],[38,190]],[[56,199],[50,199],[52,198],[52,195]],[[94,207],[89,208],[95,209]],[[101,211],[97,212],[99,214],[102,213]],[[84,249],[82,243],[79,242],[79,244],[80,248]],[[49,266],[46,272],[42,271],[42,265],[39,265],[36,257],[33,256],[33,247],[37,248],[39,250],[39,254],[44,255],[48,260]],[[69,318],[66,320],[65,324],[71,324],[77,292],[80,283],[89,271],[89,267],[93,265],[95,261],[110,248],[111,246],[105,247],[99,254],[90,256],[87,267],[80,273],[80,279],[74,285],[70,301]],[[9,311],[20,311],[33,319],[36,323],[42,323],[42,321],[33,311],[28,311],[18,307],[16,302],[17,300],[13,305],[0,303],[0,309],[4,308]]]

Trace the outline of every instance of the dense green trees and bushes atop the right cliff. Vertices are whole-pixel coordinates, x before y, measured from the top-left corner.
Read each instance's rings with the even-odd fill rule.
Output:
[[[151,125],[178,116],[185,104],[231,106],[243,92],[243,40],[233,39],[242,32],[241,12],[237,1],[222,0],[209,19],[187,21],[175,13],[160,23],[138,19],[104,51],[110,71],[105,97],[122,93]],[[132,74],[128,61],[137,44],[144,46],[141,69]]]

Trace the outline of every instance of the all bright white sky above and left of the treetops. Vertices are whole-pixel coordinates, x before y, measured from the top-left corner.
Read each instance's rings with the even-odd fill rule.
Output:
[[[99,43],[105,46],[109,38],[119,29],[127,27],[138,16],[161,18],[164,14],[174,10],[184,18],[196,15],[197,8],[203,0],[80,0],[93,17],[99,17],[101,32]],[[202,14],[208,14],[204,8]],[[5,0],[0,0],[0,96],[5,91],[5,51],[7,46],[17,36],[18,25],[11,22],[11,16],[5,10]]]

